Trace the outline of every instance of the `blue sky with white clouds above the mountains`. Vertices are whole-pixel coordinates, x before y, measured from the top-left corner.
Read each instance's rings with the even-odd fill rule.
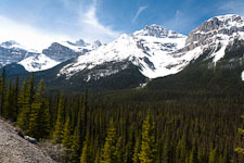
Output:
[[[244,16],[243,7],[243,0],[1,0],[0,41],[33,48],[79,38],[110,42],[151,24],[188,35],[216,15]]]

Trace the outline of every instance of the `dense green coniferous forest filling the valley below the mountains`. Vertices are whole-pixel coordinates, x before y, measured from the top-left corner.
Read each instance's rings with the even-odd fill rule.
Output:
[[[43,80],[35,83],[33,75],[23,83],[7,80],[3,68],[0,114],[39,141],[62,145],[60,162],[244,162],[244,93],[237,90],[218,96],[86,90],[69,96],[50,95]]]

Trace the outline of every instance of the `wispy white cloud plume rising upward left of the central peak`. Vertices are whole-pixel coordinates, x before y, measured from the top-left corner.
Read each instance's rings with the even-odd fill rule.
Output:
[[[103,25],[97,17],[97,1],[88,8],[79,16],[80,34],[85,40],[101,39],[103,42],[108,42],[117,38],[121,33],[113,30],[110,26]]]

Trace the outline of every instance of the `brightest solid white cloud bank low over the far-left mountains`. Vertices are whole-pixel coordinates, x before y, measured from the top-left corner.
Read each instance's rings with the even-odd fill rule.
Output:
[[[0,15],[0,42],[15,40],[28,49],[41,52],[51,42],[66,40],[68,37],[49,34],[33,26],[16,23],[5,16]]]

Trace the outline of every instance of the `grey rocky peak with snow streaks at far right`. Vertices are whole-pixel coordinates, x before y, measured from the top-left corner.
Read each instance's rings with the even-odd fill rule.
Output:
[[[227,48],[236,39],[244,39],[244,18],[234,14],[216,16],[192,30],[184,49],[177,54],[192,55],[194,60],[209,50],[208,58],[216,63],[224,57]]]

